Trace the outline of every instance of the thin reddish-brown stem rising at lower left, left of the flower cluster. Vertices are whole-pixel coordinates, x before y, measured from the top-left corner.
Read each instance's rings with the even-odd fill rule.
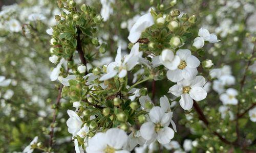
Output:
[[[57,97],[56,104],[55,104],[56,108],[58,108],[59,103],[60,103],[62,88],[63,88],[63,85],[61,84],[61,86],[59,87],[58,97]],[[52,123],[51,123],[51,132],[50,132],[50,139],[49,139],[49,146],[50,147],[52,147],[52,144],[53,144],[54,123],[56,122],[56,118],[57,118],[57,109],[56,108],[54,109],[53,120],[52,120]]]

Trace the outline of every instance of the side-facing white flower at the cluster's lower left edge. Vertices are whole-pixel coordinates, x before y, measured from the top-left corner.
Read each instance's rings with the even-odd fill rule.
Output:
[[[77,132],[81,129],[83,124],[81,118],[72,110],[67,111],[69,119],[67,120],[68,132],[73,136],[76,136]]]

